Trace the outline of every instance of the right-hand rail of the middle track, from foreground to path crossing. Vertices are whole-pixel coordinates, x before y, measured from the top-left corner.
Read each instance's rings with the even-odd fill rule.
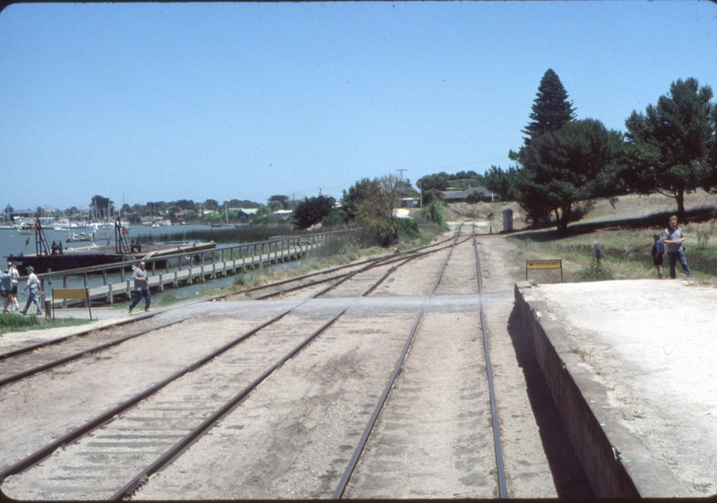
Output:
[[[309,343],[314,341],[316,337],[318,337],[320,334],[323,334],[331,325],[336,323],[336,321],[346,312],[347,309],[348,307],[343,308],[343,310],[341,310],[341,313],[334,316],[331,320],[322,325],[313,334],[309,335],[307,339],[299,343],[298,346],[285,354],[281,358],[281,360],[274,363],[272,367],[266,369],[261,376],[256,377],[255,380],[249,383],[248,386],[242,389],[237,395],[234,395],[229,400],[229,402],[224,403],[219,409],[213,412],[211,416],[206,418],[196,428],[192,429],[192,431],[187,433],[184,438],[177,442],[177,444],[175,444],[173,447],[170,447],[168,451],[165,452],[163,455],[160,455],[160,457],[156,461],[154,461],[154,463],[144,468],[142,472],[137,473],[137,475],[134,476],[134,479],[127,482],[124,487],[122,487],[120,490],[117,490],[117,492],[113,494],[109,499],[124,499],[126,496],[129,496],[129,494],[132,493],[134,490],[137,490],[139,486],[142,485],[143,481],[147,480],[147,478],[150,477],[153,473],[159,472],[164,466],[170,464],[174,459],[177,458],[178,455],[181,455],[196,440],[201,438],[208,429],[211,429],[217,423],[217,421],[220,421],[224,416],[229,414],[229,412],[232,412],[236,407],[238,407],[239,404],[244,402],[244,400],[246,400],[246,397],[252,391],[254,391],[256,386],[259,386],[264,379],[271,376],[276,369],[279,369],[286,361],[296,356],[299,351],[303,350]]]

